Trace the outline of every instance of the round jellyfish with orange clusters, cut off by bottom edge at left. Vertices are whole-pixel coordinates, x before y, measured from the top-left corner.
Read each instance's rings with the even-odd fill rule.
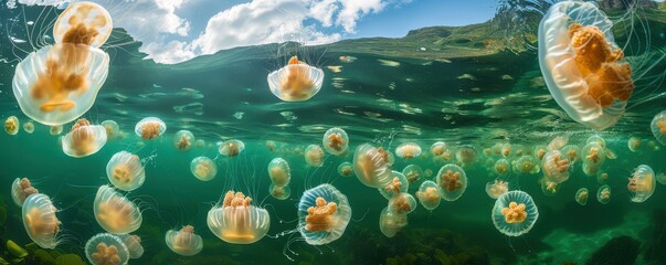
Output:
[[[85,256],[94,265],[127,264],[129,251],[119,236],[99,233],[85,243]]]

